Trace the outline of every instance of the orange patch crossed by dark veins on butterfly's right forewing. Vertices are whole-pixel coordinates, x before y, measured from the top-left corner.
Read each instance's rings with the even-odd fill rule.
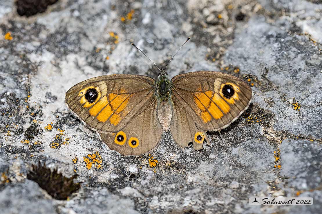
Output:
[[[194,102],[198,107],[195,112],[199,114],[204,123],[211,121],[212,118],[220,119],[223,114],[227,114],[230,110],[229,105],[211,90],[195,92],[194,95]]]

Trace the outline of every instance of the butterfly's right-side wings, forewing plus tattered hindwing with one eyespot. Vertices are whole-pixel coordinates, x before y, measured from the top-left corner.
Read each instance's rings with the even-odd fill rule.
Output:
[[[204,139],[209,142],[206,131],[229,126],[248,108],[252,98],[245,81],[225,73],[197,71],[177,75],[171,81],[170,131],[181,147],[193,142],[194,149],[202,149]]]

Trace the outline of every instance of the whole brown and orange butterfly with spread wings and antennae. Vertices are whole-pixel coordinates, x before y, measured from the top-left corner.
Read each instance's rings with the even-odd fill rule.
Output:
[[[240,78],[196,71],[170,80],[165,68],[159,69],[156,80],[111,74],[82,81],[66,92],[66,104],[111,150],[142,155],[156,147],[163,131],[179,146],[192,142],[201,150],[204,141],[210,145],[207,131],[226,128],[251,103],[253,92]]]

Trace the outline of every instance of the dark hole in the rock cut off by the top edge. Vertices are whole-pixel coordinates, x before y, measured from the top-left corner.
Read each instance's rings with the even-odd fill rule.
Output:
[[[17,13],[20,16],[32,16],[37,13],[43,13],[51,4],[58,0],[17,0]]]

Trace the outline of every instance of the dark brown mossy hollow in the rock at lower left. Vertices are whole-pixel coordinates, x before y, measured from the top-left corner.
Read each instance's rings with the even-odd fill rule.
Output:
[[[57,173],[57,169],[51,171],[41,163],[38,166],[33,165],[32,171],[27,175],[29,180],[39,184],[42,189],[58,200],[66,200],[71,193],[80,188],[80,184],[73,181],[76,177],[76,175],[70,178],[65,177],[61,173]]]

